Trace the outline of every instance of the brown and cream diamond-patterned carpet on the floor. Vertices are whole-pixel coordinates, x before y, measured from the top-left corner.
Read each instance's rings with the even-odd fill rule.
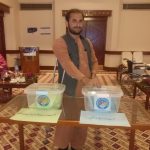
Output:
[[[100,72],[98,78],[102,85],[117,85],[116,74],[113,72]],[[42,72],[39,76],[39,83],[50,83],[52,74]],[[55,81],[57,80],[57,76]],[[23,89],[14,89],[13,94],[17,95]],[[125,93],[125,97],[129,98]],[[136,97],[144,107],[144,95]],[[25,126],[25,149],[26,150],[53,150],[53,139],[55,126],[48,132],[45,126],[26,125]],[[88,128],[88,136],[83,150],[128,150],[129,131],[110,128]],[[19,150],[17,125],[0,123],[0,150]],[[135,150],[150,150],[150,130],[136,131]]]

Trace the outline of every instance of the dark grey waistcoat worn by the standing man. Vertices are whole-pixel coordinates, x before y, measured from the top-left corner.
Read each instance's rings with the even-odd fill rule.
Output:
[[[74,65],[79,68],[79,49],[78,45],[76,44],[75,40],[73,37],[71,37],[69,34],[66,34],[62,37],[66,44],[67,44],[67,50],[69,57],[71,61],[74,63]],[[82,44],[84,46],[84,50],[87,52],[87,57],[88,57],[88,65],[90,70],[92,70],[92,60],[91,60],[91,47],[87,39],[84,37],[80,36]],[[62,68],[61,64],[58,61],[58,73],[59,73],[59,78],[58,82],[61,83],[62,76],[63,76],[63,71],[64,69]],[[65,93],[70,96],[75,96],[75,91],[76,91],[76,86],[77,86],[77,80],[69,76],[66,72],[64,75],[64,80],[62,82],[63,84],[66,85],[66,90]]]

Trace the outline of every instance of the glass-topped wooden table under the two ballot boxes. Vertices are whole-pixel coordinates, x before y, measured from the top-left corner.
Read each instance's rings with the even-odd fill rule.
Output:
[[[19,126],[19,141],[20,150],[24,150],[24,130],[23,126],[26,124],[38,124],[38,125],[50,125],[50,123],[39,123],[39,122],[28,122],[28,121],[15,121],[11,120],[10,117],[13,116],[21,108],[26,108],[27,96],[25,94],[19,95],[9,101],[4,107],[0,108],[0,121],[9,124],[18,124]],[[92,125],[92,124],[80,124],[80,111],[84,110],[84,99],[82,97],[64,97],[62,103],[62,113],[57,122],[57,125],[71,125],[71,126],[90,126],[90,127],[101,127],[101,128],[121,128],[130,130],[130,141],[129,149],[134,149],[134,138],[135,130],[148,130],[150,129],[150,115],[142,107],[142,105],[136,100],[131,98],[122,98],[120,103],[119,112],[126,114],[127,119],[131,127],[121,127],[121,126],[102,126],[102,125]],[[6,112],[9,113],[6,113]],[[11,113],[10,113],[11,112]],[[51,125],[56,125],[52,124]]]

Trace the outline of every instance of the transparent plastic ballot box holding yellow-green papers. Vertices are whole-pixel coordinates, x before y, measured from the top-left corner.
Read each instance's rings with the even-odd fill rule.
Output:
[[[34,83],[25,88],[28,106],[35,108],[59,109],[65,85],[57,83]]]

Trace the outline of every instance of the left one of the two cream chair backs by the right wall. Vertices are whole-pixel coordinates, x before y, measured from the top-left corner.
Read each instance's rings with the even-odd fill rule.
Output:
[[[122,52],[121,54],[121,62],[124,66],[128,66],[127,65],[127,60],[131,60],[132,61],[132,52]]]

